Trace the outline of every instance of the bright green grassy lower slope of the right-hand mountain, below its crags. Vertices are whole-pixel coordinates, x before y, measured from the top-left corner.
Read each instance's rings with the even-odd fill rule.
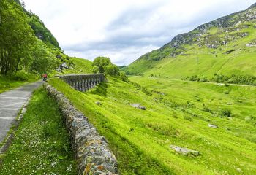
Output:
[[[129,65],[125,71],[129,71],[132,74],[144,74],[146,76],[154,74],[157,77],[168,76],[172,78],[191,75],[212,77],[214,73],[246,73],[256,76],[256,47],[246,47],[246,44],[255,41],[256,30],[254,23],[246,22],[241,23],[242,25],[249,25],[249,28],[230,32],[229,35],[236,36],[247,32],[249,36],[229,42],[227,45],[222,45],[217,49],[210,49],[206,46],[198,47],[197,44],[183,45],[184,51],[175,57],[171,57],[170,53],[173,50],[165,47],[162,51],[155,50],[149,55],[140,58]],[[225,40],[224,33],[223,29],[211,28],[205,36],[211,35],[213,40],[223,41]],[[227,54],[226,52],[229,50],[235,51]],[[159,61],[154,61],[154,57],[161,57],[161,54],[167,56]]]

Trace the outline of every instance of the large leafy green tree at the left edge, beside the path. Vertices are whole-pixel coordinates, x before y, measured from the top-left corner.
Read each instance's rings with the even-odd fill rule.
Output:
[[[35,37],[22,7],[7,0],[1,0],[0,7],[0,73],[12,74],[27,57]]]

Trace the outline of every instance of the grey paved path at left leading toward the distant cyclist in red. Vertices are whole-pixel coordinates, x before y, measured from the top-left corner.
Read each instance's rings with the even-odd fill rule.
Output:
[[[31,94],[39,85],[42,85],[42,81],[0,94],[0,143],[7,136],[22,106],[29,101]]]

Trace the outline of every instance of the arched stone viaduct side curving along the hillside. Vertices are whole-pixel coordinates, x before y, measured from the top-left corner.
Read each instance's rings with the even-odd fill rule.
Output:
[[[59,78],[71,85],[75,90],[82,92],[94,88],[105,80],[104,74],[70,74]]]

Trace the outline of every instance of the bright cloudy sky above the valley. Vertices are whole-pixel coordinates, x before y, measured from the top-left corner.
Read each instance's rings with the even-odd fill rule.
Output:
[[[118,66],[256,0],[23,0],[69,56]]]

